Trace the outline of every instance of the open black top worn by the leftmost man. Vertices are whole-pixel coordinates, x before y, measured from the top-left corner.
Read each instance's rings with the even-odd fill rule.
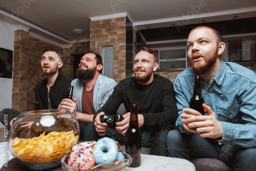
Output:
[[[34,87],[36,101],[40,103],[41,109],[48,109],[48,97],[47,97],[47,83],[45,78],[37,83]],[[50,87],[50,100],[52,109],[57,109],[62,99],[65,99],[71,80],[64,77],[62,74],[58,74],[53,86]]]

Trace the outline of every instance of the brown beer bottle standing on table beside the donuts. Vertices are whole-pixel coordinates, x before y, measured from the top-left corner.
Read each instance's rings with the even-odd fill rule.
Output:
[[[138,123],[137,105],[131,105],[129,128],[125,136],[125,153],[133,159],[129,167],[139,167],[141,164],[141,131]]]

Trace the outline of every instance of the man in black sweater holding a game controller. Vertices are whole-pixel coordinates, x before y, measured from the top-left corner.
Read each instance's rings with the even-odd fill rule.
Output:
[[[135,77],[121,80],[114,88],[109,100],[96,112],[90,123],[87,141],[110,137],[125,144],[125,133],[129,128],[132,104],[137,104],[142,147],[151,148],[151,154],[166,156],[166,137],[174,128],[178,117],[175,92],[170,80],[154,74],[158,68],[158,57],[154,50],[141,48],[134,59]],[[124,120],[116,122],[116,129],[101,123],[101,115],[114,115],[120,104],[124,104]]]

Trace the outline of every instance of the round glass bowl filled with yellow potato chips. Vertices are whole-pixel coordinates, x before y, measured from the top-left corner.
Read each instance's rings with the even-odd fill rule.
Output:
[[[30,169],[59,165],[79,139],[79,125],[68,110],[34,110],[20,113],[9,131],[14,158]]]

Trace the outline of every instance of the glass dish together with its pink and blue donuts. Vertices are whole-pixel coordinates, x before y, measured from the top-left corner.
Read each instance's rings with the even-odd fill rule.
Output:
[[[73,150],[72,153],[74,155],[71,153],[70,155],[66,155],[61,159],[62,168],[66,171],[71,171],[71,170],[72,171],[76,171],[76,170],[84,170],[84,171],[86,171],[86,170],[88,170],[88,171],[89,170],[121,170],[121,169],[131,165],[133,159],[130,157],[129,154],[124,153],[123,150],[119,148],[118,142],[117,142],[118,146],[115,149],[115,153],[118,153],[118,156],[121,155],[122,157],[121,158],[116,157],[116,159],[112,160],[113,162],[108,162],[108,160],[106,160],[106,159],[111,158],[112,153],[114,155],[114,152],[111,151],[111,149],[108,149],[111,152],[107,156],[104,157],[104,160],[106,160],[106,162],[97,164],[96,156],[104,156],[104,154],[99,154],[99,155],[95,156],[95,154],[97,154],[96,147],[98,149],[102,150],[104,148],[104,146],[102,146],[102,144],[104,144],[105,139],[106,138],[103,138],[102,142],[100,142],[101,140],[99,140],[97,142],[100,145],[100,147],[99,147],[99,145],[97,145],[97,143],[95,145],[94,144],[91,145],[92,142],[89,142],[90,144],[85,145],[85,146],[82,143],[75,145],[75,148],[73,147],[73,149],[72,149]],[[114,141],[114,140],[112,140],[112,141]],[[86,142],[84,142],[84,143],[86,143]],[[116,143],[116,142],[114,141],[114,143]],[[106,143],[106,144],[113,147],[113,144],[110,144],[109,140],[108,140],[108,143]],[[90,155],[92,155],[92,156],[90,156]],[[94,164],[89,164],[92,161]]]

